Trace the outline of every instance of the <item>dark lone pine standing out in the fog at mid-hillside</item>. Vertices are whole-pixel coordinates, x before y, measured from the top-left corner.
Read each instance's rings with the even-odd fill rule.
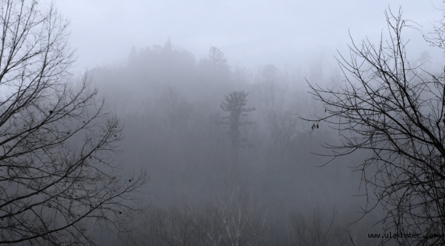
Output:
[[[231,139],[232,146],[232,161],[233,163],[238,163],[238,149],[240,147],[240,142],[243,140],[240,138],[240,126],[243,124],[253,124],[250,121],[241,120],[242,116],[247,116],[247,112],[255,110],[253,108],[246,108],[247,95],[249,93],[244,92],[232,92],[229,96],[225,96],[225,101],[221,102],[221,109],[229,113],[228,116],[223,118],[221,124],[227,124],[229,126],[229,132],[227,134]]]

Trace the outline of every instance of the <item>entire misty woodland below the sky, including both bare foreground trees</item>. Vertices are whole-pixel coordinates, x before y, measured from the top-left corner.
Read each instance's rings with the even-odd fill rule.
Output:
[[[445,75],[401,10],[334,66],[166,38],[74,76],[39,4],[0,6],[0,245],[444,245]]]

